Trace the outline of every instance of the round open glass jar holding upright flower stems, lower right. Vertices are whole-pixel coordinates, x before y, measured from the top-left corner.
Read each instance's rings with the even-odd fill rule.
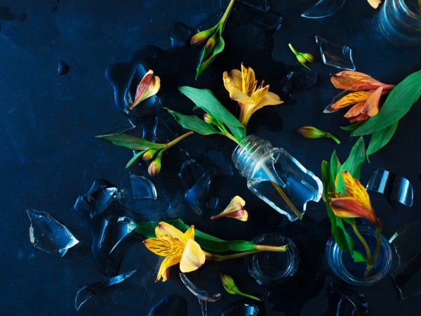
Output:
[[[366,240],[371,253],[374,254],[377,244],[375,239],[375,229],[368,226],[357,227],[361,236],[363,236]],[[347,232],[349,232],[349,235],[354,239],[355,249],[366,256],[366,251],[363,249],[359,239],[355,236],[352,228],[349,227]],[[390,246],[389,241],[383,235],[381,235],[381,240],[382,244],[379,256],[377,257],[373,270],[370,272],[368,277],[363,276],[366,271],[366,264],[363,262],[354,262],[354,259],[351,257],[351,254],[349,254],[349,251],[343,251],[340,249],[333,237],[330,237],[326,243],[326,261],[328,262],[332,272],[348,284],[356,287],[367,287],[375,284],[389,273],[393,262],[392,246]]]

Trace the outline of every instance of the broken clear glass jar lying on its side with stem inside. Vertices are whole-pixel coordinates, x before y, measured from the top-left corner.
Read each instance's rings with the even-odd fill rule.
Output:
[[[247,136],[232,153],[232,162],[247,178],[248,188],[291,221],[302,217],[308,201],[321,198],[321,180],[267,140]]]

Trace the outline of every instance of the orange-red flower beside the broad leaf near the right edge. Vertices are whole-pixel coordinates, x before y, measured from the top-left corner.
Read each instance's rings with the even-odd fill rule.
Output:
[[[362,72],[345,70],[334,74],[330,81],[335,88],[353,91],[335,100],[325,110],[333,112],[353,105],[344,115],[350,122],[363,121],[379,112],[380,97],[392,91],[392,84],[383,84]]]

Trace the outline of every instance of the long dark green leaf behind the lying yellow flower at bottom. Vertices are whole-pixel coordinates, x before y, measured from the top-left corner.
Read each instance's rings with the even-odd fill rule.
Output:
[[[159,222],[143,222],[136,223],[135,232],[138,234],[147,237],[154,238],[155,228]],[[182,232],[185,232],[190,228],[189,225],[185,224],[182,220],[166,220],[166,223],[173,225],[175,228],[178,228]],[[206,234],[206,232],[201,232],[194,228],[194,240],[199,243],[203,249],[213,252],[225,252],[225,251],[248,251],[255,249],[255,244],[253,242],[248,242],[246,240],[223,240],[212,235]]]

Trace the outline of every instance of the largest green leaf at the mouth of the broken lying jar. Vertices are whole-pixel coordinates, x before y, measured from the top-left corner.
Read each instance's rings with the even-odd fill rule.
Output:
[[[236,140],[241,140],[246,136],[246,128],[234,115],[231,114],[213,95],[209,89],[193,88],[191,86],[180,86],[178,88],[182,94],[187,96],[193,103],[211,117],[222,121],[232,132]]]

